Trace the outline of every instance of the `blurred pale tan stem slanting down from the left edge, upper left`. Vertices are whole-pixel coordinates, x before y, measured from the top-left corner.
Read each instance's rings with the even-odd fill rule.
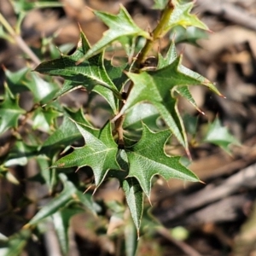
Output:
[[[13,27],[9,25],[9,22],[3,17],[1,13],[0,13],[0,23],[3,24],[3,27],[6,29],[7,32],[9,32],[12,38],[15,39],[15,43],[20,47],[20,49],[24,53],[26,53],[26,55],[28,55],[35,64],[39,65],[41,61],[38,59],[38,56],[32,52],[32,49],[30,49],[27,46],[23,38],[21,38],[20,35],[17,32],[15,32]]]

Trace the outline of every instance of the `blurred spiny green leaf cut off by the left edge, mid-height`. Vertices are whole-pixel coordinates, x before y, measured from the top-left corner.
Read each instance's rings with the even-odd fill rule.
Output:
[[[17,127],[20,115],[26,113],[18,104],[18,96],[12,95],[7,84],[4,84],[4,89],[4,100],[0,103],[0,134]]]

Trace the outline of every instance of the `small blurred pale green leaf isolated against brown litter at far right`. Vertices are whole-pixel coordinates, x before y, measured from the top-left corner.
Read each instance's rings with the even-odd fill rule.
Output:
[[[233,137],[228,131],[227,127],[221,125],[219,119],[215,119],[214,122],[209,125],[207,135],[203,140],[206,143],[213,143],[224,151],[230,154],[230,144],[239,145],[240,143]]]

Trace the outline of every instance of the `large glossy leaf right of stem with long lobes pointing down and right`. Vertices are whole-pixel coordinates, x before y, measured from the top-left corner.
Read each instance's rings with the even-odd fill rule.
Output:
[[[125,113],[139,102],[150,102],[158,109],[166,125],[184,148],[188,149],[187,137],[183,128],[183,121],[178,113],[177,98],[173,95],[177,86],[203,84],[216,91],[215,86],[199,75],[183,67],[181,56],[177,57],[171,64],[157,71],[142,73],[127,73],[133,81],[134,86],[125,102],[121,113]]]

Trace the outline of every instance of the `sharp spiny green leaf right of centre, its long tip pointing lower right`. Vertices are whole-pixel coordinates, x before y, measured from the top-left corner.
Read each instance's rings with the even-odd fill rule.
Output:
[[[128,177],[137,178],[148,197],[154,175],[160,175],[166,180],[174,177],[190,182],[199,181],[193,172],[180,163],[179,156],[166,155],[164,146],[170,136],[169,130],[154,133],[143,125],[141,140],[131,148],[126,148],[130,166]]]

